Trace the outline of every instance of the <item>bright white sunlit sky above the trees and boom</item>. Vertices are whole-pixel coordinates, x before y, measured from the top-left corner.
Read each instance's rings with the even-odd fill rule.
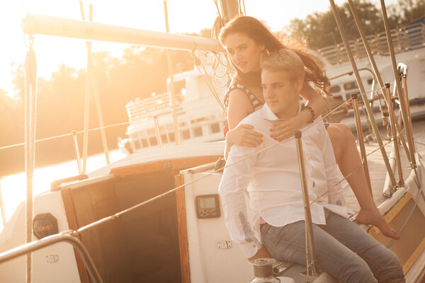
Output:
[[[378,3],[378,0],[374,0]],[[392,4],[395,0],[387,0]],[[145,30],[165,31],[162,0],[91,0],[83,1],[86,15],[89,4],[94,5],[94,21]],[[336,4],[344,0],[336,0]],[[212,0],[169,0],[169,27],[171,33],[199,32],[211,28],[217,16]],[[266,21],[273,31],[282,30],[293,18],[305,18],[315,11],[329,8],[326,0],[245,0],[246,13]],[[21,19],[27,13],[45,14],[81,19],[78,0],[5,0],[0,3],[0,88],[13,97],[11,70],[25,59],[27,47],[21,31]],[[94,42],[93,51],[108,50],[120,57],[128,45]],[[86,46],[83,40],[63,39],[36,35],[34,50],[38,62],[38,76],[48,78],[60,64],[77,69],[86,64]]]

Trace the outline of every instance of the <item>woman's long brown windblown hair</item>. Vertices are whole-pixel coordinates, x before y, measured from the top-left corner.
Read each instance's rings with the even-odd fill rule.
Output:
[[[292,40],[288,42],[288,45],[283,44],[271,31],[256,18],[249,16],[238,16],[232,21],[229,21],[221,30],[219,40],[223,46],[225,46],[225,39],[232,33],[242,33],[248,37],[251,37],[256,44],[264,45],[264,52],[274,52],[281,48],[288,48],[293,50],[302,59],[305,66],[305,81],[312,82],[315,86],[322,89],[327,95],[329,93],[329,86],[331,83],[327,78],[324,69],[320,66],[320,61],[317,57],[307,53],[307,46],[300,40]],[[253,78],[252,74],[244,74],[239,71],[236,66],[234,69],[237,71],[234,79],[240,83],[244,83],[247,87],[249,85],[261,83],[261,78]]]

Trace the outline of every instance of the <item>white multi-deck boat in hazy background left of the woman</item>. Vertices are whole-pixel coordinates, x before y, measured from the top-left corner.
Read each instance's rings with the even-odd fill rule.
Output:
[[[199,55],[208,75],[212,76],[212,56]],[[224,69],[221,67],[221,69]],[[220,70],[219,70],[220,71]],[[224,84],[225,79],[217,79]],[[159,137],[164,146],[174,144],[174,120],[171,115],[171,90],[145,99],[137,98],[125,105],[130,125],[127,138],[119,139],[118,146],[126,154],[147,151],[159,147]],[[226,117],[210,94],[207,84],[198,69],[174,75],[177,117],[181,143],[220,141],[224,139],[223,127]],[[224,88],[215,88],[220,99]],[[155,128],[157,117],[159,129]],[[158,131],[159,130],[159,131]],[[159,136],[158,136],[159,134]]]

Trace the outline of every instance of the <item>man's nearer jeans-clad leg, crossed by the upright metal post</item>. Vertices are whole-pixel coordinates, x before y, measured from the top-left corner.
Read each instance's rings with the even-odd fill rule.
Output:
[[[367,263],[339,243],[326,231],[313,224],[314,246],[319,270],[328,272],[341,282],[376,282]],[[261,225],[261,241],[272,258],[305,265],[305,224],[297,221],[283,227]]]

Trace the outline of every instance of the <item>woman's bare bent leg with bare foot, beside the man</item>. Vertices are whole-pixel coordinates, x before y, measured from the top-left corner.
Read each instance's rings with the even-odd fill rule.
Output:
[[[361,166],[361,158],[358,154],[356,139],[351,129],[344,124],[331,124],[327,127],[327,132],[334,149],[335,160],[338,163],[339,171],[346,177],[348,185],[353,190],[354,195],[360,204],[360,212],[356,220],[362,224],[373,224],[387,237],[399,238],[397,232],[387,224],[382,215],[378,212],[373,197],[370,195],[365,171]],[[351,175],[349,175],[353,172]],[[348,176],[349,175],[349,176]]]

